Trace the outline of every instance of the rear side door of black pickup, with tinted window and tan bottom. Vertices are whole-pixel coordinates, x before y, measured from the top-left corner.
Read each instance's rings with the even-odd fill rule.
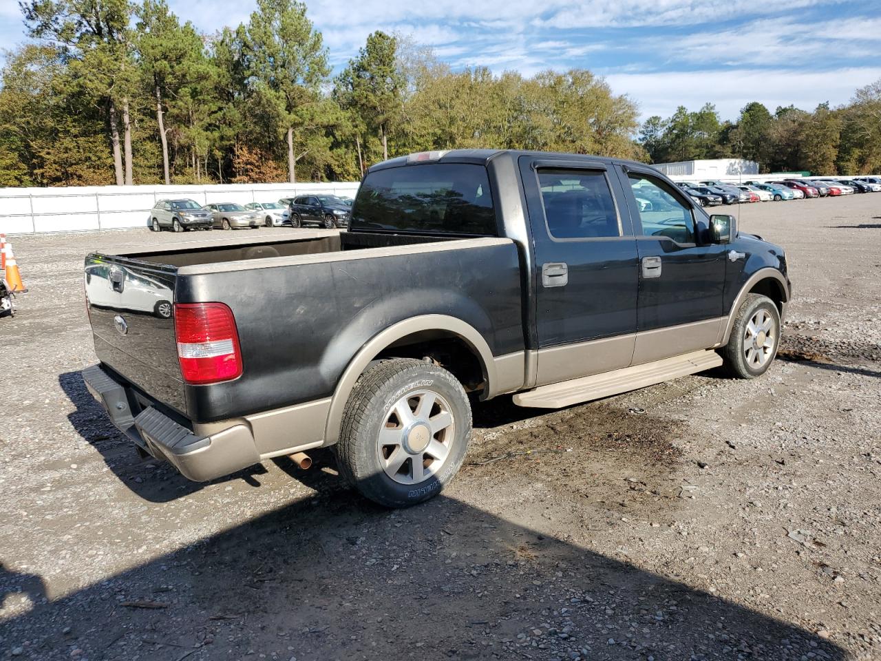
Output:
[[[520,160],[536,256],[537,385],[626,368],[637,251],[620,182],[602,162]]]

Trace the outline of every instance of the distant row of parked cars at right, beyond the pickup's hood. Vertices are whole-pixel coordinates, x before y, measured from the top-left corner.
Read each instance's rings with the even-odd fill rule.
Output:
[[[852,193],[881,192],[881,177],[854,177],[852,179],[783,179],[779,182],[727,183],[707,182],[677,184],[697,200],[701,206],[744,204],[749,202],[780,202],[851,195]]]

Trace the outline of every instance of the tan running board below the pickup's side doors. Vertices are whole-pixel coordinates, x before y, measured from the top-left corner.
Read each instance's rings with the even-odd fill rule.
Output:
[[[634,365],[613,372],[539,386],[534,390],[517,393],[514,396],[514,403],[518,406],[559,409],[563,406],[589,402],[591,399],[618,395],[627,390],[645,388],[720,365],[722,365],[722,356],[714,351],[685,353],[682,356],[655,360],[644,365]]]

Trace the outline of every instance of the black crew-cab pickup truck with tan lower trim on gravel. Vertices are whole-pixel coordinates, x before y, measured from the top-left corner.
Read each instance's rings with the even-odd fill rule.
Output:
[[[85,382],[144,456],[208,480],[334,446],[393,507],[453,478],[471,399],[759,376],[790,298],[783,249],[655,169],[544,152],[388,160],[349,232],[93,253],[85,272]]]

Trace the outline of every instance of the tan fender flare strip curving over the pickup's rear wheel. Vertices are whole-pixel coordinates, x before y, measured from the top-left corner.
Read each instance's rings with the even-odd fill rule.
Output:
[[[343,371],[343,375],[337,381],[328,412],[328,420],[324,429],[324,445],[332,445],[339,440],[339,428],[343,423],[343,411],[355,382],[360,375],[379,353],[389,345],[401,338],[419,331],[448,331],[468,344],[480,359],[481,368],[487,384],[486,397],[492,397],[495,393],[493,387],[497,383],[495,361],[492,357],[490,346],[486,344],[484,337],[462,319],[447,315],[422,315],[414,316],[395,323],[370,338],[363,345],[354,358]]]

